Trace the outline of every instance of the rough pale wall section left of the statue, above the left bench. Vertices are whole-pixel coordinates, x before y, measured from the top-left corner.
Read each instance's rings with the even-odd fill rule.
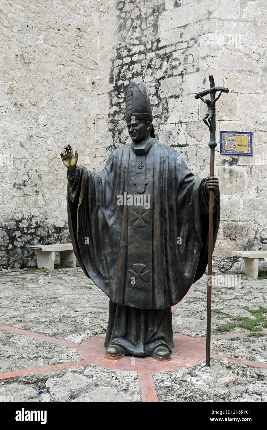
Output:
[[[3,1],[0,77],[0,265],[36,265],[27,244],[68,241],[66,144],[95,146],[97,0]],[[103,9],[103,13],[102,13]],[[108,48],[107,48],[108,49]]]

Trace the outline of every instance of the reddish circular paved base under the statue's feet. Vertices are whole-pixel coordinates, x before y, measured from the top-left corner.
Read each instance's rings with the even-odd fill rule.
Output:
[[[185,369],[204,362],[206,344],[198,338],[174,333],[174,348],[171,360],[162,362],[152,357],[123,356],[117,360],[105,358],[105,335],[87,339],[78,347],[79,355],[88,362],[105,369],[122,370],[126,372],[169,372]]]

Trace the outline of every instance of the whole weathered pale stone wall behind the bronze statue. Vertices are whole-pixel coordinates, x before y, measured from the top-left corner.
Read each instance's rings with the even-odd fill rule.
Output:
[[[57,4],[56,4],[57,3]],[[2,265],[36,264],[27,243],[69,240],[66,171],[58,153],[78,149],[98,171],[129,142],[128,82],[147,84],[156,138],[192,172],[209,172],[205,105],[192,93],[228,86],[217,102],[219,130],[252,131],[253,157],[219,155],[222,222],[214,252],[237,268],[233,250],[267,249],[267,12],[264,0],[5,2],[2,31],[0,219]],[[27,27],[28,25],[28,27]],[[6,249],[9,248],[8,253]]]

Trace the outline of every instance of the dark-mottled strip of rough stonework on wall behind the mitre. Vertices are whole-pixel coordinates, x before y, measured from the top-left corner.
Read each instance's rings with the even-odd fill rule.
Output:
[[[175,6],[180,6],[180,1]],[[166,46],[159,47],[161,42],[158,34],[158,17],[164,11],[164,2],[160,5],[145,8],[135,4],[135,11],[138,15],[132,17],[132,10],[125,10],[127,3],[118,1],[117,8],[120,12],[120,22],[118,24],[118,37],[120,43],[114,55],[109,82],[114,85],[110,92],[109,123],[113,136],[113,144],[108,149],[113,151],[116,147],[125,144],[125,137],[121,137],[126,128],[124,102],[129,80],[142,78],[147,83],[150,90],[153,85],[153,94],[150,91],[150,100],[153,110],[153,124],[157,137],[157,128],[161,124],[167,123],[168,118],[168,99],[161,98],[159,93],[162,78],[173,76],[173,62],[171,53],[163,52]],[[153,35],[155,35],[153,37]],[[162,49],[162,52],[154,53]],[[151,55],[151,56],[150,56]],[[157,64],[156,64],[157,61]],[[152,81],[146,78],[153,75],[153,72],[160,71],[164,62],[167,67],[162,77]],[[151,72],[150,72],[151,70]],[[172,95],[172,98],[179,98],[179,95]]]

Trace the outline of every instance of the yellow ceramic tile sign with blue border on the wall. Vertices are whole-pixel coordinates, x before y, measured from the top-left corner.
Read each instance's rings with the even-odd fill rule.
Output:
[[[220,154],[252,155],[252,132],[220,131]]]

